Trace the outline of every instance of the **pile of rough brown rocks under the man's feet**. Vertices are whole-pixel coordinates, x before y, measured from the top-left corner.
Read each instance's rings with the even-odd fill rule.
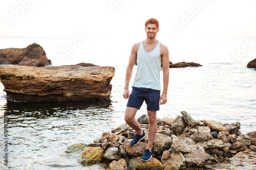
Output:
[[[104,132],[88,144],[79,162],[83,165],[108,162],[111,169],[183,169],[216,162],[255,166],[256,132],[241,134],[238,122],[223,125],[214,120],[196,121],[185,111],[181,113],[182,116],[176,118],[158,118],[153,158],[148,162],[140,160],[148,139],[131,146],[136,132],[125,124]],[[143,115],[138,121],[147,134],[147,116]]]

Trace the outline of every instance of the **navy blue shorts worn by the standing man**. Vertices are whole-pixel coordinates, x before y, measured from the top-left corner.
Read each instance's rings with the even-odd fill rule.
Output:
[[[144,87],[133,87],[130,98],[127,102],[127,107],[140,109],[143,102],[146,102],[147,110],[159,110],[160,90],[154,90]]]

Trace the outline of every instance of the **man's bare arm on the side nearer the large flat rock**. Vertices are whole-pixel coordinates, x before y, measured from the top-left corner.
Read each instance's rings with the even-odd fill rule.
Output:
[[[133,66],[135,64],[135,61],[137,59],[137,52],[139,49],[140,43],[135,43],[132,47],[131,55],[129,58],[129,63],[126,68],[126,75],[125,75],[125,85],[124,85],[124,92],[123,92],[123,98],[124,99],[129,99],[130,97],[130,92],[129,92],[129,83],[132,78],[132,73],[133,73]]]

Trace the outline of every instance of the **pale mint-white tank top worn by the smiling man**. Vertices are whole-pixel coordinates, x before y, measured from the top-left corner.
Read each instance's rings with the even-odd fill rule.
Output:
[[[137,53],[137,71],[133,87],[145,87],[161,90],[160,84],[160,42],[151,52],[146,52],[141,41]]]

